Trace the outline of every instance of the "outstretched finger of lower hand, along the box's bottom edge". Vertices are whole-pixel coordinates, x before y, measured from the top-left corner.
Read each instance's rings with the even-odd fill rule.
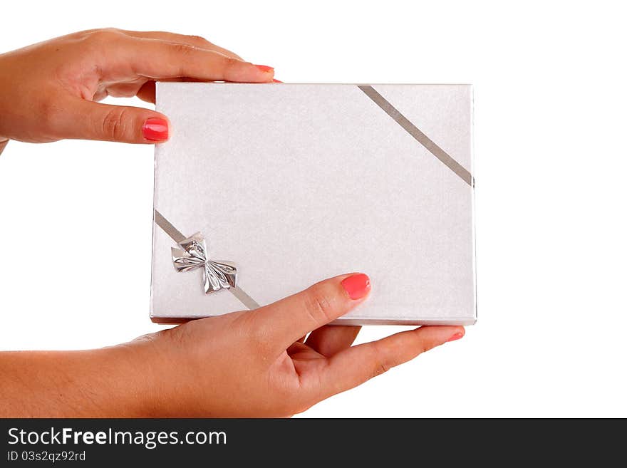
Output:
[[[328,360],[323,375],[318,376],[321,385],[317,398],[361,385],[435,346],[461,338],[464,333],[460,326],[423,326],[343,350]]]

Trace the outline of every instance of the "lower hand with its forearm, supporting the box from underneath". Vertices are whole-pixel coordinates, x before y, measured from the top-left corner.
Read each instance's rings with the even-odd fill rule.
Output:
[[[290,416],[464,336],[423,326],[351,347],[358,327],[326,324],[369,292],[368,276],[344,275],[112,348],[0,353],[0,415]]]

